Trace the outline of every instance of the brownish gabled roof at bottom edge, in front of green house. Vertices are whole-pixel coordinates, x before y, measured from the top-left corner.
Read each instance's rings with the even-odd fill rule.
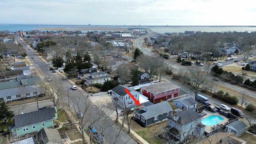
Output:
[[[36,144],[64,144],[58,130],[42,128],[33,136]]]

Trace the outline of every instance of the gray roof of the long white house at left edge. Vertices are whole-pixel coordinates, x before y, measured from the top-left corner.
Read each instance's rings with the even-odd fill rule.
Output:
[[[15,96],[17,94],[25,94],[29,92],[37,92],[39,89],[36,88],[36,86],[25,86],[25,87],[18,87],[18,88],[9,88],[5,90],[0,90],[0,97],[5,97],[5,96]],[[21,98],[23,96],[21,95]]]

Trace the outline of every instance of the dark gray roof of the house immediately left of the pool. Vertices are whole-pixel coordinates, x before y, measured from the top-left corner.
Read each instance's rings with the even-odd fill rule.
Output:
[[[178,118],[178,120],[175,120],[175,118]],[[193,122],[199,118],[202,118],[202,116],[192,109],[188,109],[183,112],[178,112],[178,113],[174,114],[173,116],[168,117],[169,120],[176,121],[176,123],[180,124],[180,125],[186,125],[186,124]]]

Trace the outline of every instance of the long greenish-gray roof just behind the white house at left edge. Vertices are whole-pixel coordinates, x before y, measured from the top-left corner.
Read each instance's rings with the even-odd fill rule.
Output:
[[[27,84],[22,84],[20,80],[13,80],[8,82],[0,82],[0,90],[8,89],[8,88],[17,88],[20,86],[31,86],[40,84],[40,78],[27,78]]]

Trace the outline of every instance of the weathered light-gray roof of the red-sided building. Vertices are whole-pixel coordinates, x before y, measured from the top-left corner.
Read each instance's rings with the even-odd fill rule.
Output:
[[[181,88],[180,86],[176,86],[175,84],[169,83],[169,82],[158,82],[151,84],[149,86],[142,86],[141,89],[147,90],[153,94],[159,94],[162,92],[174,90]]]

